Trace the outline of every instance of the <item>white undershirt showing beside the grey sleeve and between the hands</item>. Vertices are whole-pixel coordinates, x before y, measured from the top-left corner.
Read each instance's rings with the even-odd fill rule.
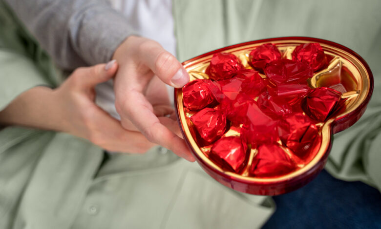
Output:
[[[123,12],[137,35],[159,42],[164,49],[176,56],[176,39],[172,17],[171,0],[109,0],[112,7]],[[128,76],[126,76],[128,77]],[[169,98],[173,100],[173,88],[169,87]],[[115,118],[120,116],[115,109],[113,82],[99,84],[95,88],[95,102]],[[131,98],[133,99],[133,98]],[[173,101],[172,101],[173,103]]]

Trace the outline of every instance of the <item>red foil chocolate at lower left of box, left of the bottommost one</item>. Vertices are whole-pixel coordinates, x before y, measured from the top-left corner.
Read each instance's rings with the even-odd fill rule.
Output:
[[[223,168],[240,172],[246,161],[247,145],[240,137],[222,137],[212,146],[210,157]]]

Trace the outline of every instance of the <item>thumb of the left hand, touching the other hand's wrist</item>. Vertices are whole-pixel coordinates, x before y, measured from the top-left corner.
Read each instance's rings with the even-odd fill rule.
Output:
[[[78,77],[78,85],[82,89],[93,88],[115,76],[118,64],[111,60],[107,64],[97,64],[91,67],[78,68],[73,75]]]

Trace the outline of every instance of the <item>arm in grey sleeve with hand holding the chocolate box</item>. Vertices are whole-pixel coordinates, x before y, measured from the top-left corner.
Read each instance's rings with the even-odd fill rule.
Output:
[[[8,1],[64,68],[106,62],[111,56],[116,59],[120,68],[114,80],[115,107],[122,126],[194,161],[179,137],[177,121],[165,116],[173,110],[163,84],[182,87],[189,81],[188,73],[173,55],[153,40],[128,36],[131,31],[127,22],[106,0]]]

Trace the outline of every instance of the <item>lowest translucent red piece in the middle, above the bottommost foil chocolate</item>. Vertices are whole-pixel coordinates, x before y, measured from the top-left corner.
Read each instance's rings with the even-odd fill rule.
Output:
[[[241,129],[241,137],[248,144],[257,146],[261,143],[273,143],[278,139],[278,120],[266,115],[256,102],[249,104],[247,119]]]

